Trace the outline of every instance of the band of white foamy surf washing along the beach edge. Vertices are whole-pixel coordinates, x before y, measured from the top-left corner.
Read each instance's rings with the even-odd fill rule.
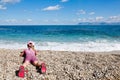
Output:
[[[0,41],[0,48],[6,49],[24,49],[26,43],[13,41]],[[54,51],[84,51],[84,52],[107,52],[120,50],[120,42],[97,40],[95,42],[39,42],[35,44],[37,50],[54,50]]]

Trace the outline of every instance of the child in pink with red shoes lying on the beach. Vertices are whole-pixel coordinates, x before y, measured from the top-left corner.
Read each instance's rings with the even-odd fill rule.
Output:
[[[21,52],[20,56],[23,57],[24,56],[24,62],[23,64],[20,66],[19,68],[19,72],[18,72],[18,76],[19,77],[24,77],[24,73],[25,73],[25,67],[27,67],[28,64],[32,63],[33,65],[35,65],[36,67],[41,68],[41,73],[45,73],[46,72],[46,67],[44,63],[39,63],[38,59],[36,58],[37,52],[34,49],[34,42],[29,41],[27,43],[27,49],[25,49],[23,52]]]

